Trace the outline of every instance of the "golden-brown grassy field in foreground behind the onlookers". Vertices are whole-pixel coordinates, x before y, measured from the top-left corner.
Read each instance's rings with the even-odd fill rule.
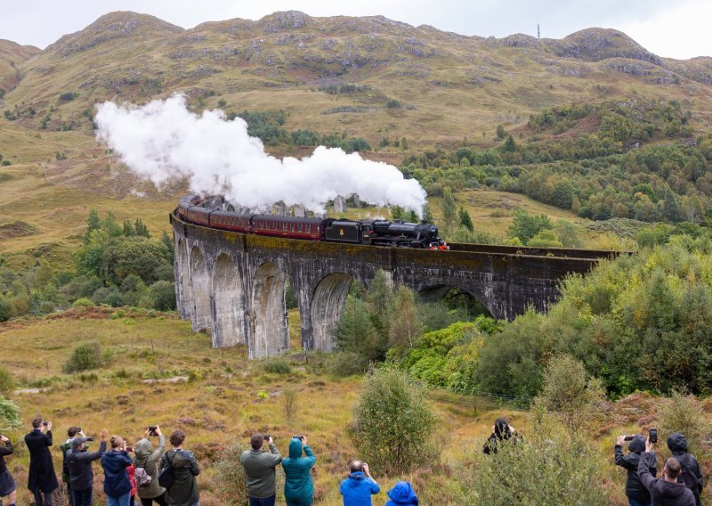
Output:
[[[290,327],[296,347],[298,323],[294,316],[290,314]],[[62,365],[76,343],[87,339],[97,340],[103,350],[110,350],[110,364],[95,371],[63,373]],[[36,412],[52,420],[57,471],[61,469],[61,454],[56,446],[70,425],[81,425],[90,434],[108,428],[111,434],[128,437],[132,443],[142,437],[142,428],[149,424],[160,424],[166,434],[183,428],[188,434],[186,447],[197,453],[203,469],[198,477],[201,503],[216,506],[223,502],[216,495],[219,484],[212,462],[224,446],[247,445],[249,435],[259,430],[270,433],[286,453],[288,438],[305,434],[319,458],[313,475],[315,502],[341,504],[338,485],[347,474],[348,461],[357,456],[347,428],[361,379],[340,379],[324,373],[320,367],[323,355],[309,355],[304,362],[303,355],[295,351],[288,357],[290,373],[269,373],[263,363],[247,362],[244,347],[211,348],[209,335],[190,331],[190,324],[174,314],[101,307],[5,322],[0,326],[0,343],[4,366],[20,383],[13,400],[20,405],[22,420],[27,424],[8,436],[20,440]],[[287,388],[294,389],[298,396],[291,422],[287,421],[281,397]],[[449,499],[457,489],[453,472],[465,458],[481,451],[492,420],[502,415],[511,417],[511,424],[525,437],[530,428],[526,412],[480,410],[475,414],[471,399],[455,397],[455,401],[433,400],[441,418],[435,436],[442,448],[441,461],[424,462],[405,477],[384,477],[379,469],[373,469],[383,489],[375,504],[385,502],[385,491],[399,478],[413,482],[421,503],[459,504]],[[613,435],[638,430],[646,410],[651,409],[649,401],[643,405],[636,402],[613,404],[612,411],[622,414],[595,431],[604,469],[602,486],[610,492],[612,504],[626,503],[625,472],[612,465]],[[18,503],[24,505],[30,503],[26,489],[28,453],[22,444],[17,448],[9,464],[18,483]],[[96,474],[96,503],[104,504],[101,467]],[[278,500],[283,503],[279,494]]]

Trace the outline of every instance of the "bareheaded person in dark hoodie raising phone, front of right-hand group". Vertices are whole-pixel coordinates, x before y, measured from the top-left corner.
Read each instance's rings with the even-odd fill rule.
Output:
[[[695,497],[692,490],[684,483],[678,483],[680,476],[680,461],[670,457],[665,461],[662,469],[663,477],[652,477],[651,466],[655,460],[655,447],[650,438],[645,440],[645,452],[641,454],[638,462],[638,476],[643,486],[651,494],[652,506],[695,506]]]

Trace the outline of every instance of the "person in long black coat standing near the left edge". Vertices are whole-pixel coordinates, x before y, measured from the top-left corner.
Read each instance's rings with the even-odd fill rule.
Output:
[[[25,436],[25,444],[29,450],[28,489],[35,495],[35,506],[52,506],[52,493],[60,486],[49,450],[52,422],[36,416],[32,420],[32,432]]]

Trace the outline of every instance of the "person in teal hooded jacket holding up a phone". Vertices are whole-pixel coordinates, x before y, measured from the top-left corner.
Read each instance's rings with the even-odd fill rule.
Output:
[[[302,456],[302,451],[306,457]],[[306,437],[296,436],[289,442],[289,456],[282,461],[284,468],[284,498],[287,506],[312,506],[314,485],[311,469],[317,462]]]

